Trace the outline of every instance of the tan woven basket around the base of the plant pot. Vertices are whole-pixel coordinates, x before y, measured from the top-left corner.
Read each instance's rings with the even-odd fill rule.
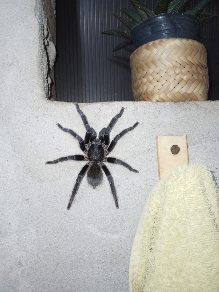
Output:
[[[130,57],[136,101],[207,100],[207,52],[192,39],[169,38],[140,46]]]

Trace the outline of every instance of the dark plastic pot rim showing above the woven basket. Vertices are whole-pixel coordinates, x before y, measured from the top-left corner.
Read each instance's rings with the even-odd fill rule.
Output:
[[[131,38],[135,48],[156,41],[177,37],[197,40],[199,19],[195,15],[184,13],[159,14],[144,20],[131,29]]]

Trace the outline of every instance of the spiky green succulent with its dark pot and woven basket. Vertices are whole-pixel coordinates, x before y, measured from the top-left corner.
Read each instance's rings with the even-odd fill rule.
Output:
[[[120,10],[131,20],[114,15],[122,26],[102,33],[126,39],[114,52],[135,44],[130,57],[135,100],[207,100],[207,53],[197,37],[199,24],[215,16],[203,11],[211,0],[192,10],[186,9],[192,0],[158,0],[154,12],[130,1],[135,10]]]

